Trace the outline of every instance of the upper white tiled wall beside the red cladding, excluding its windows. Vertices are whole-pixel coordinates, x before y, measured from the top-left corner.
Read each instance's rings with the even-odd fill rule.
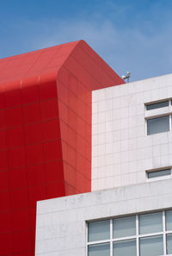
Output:
[[[144,103],[172,98],[172,75],[92,93],[92,190],[146,182],[172,165],[172,132],[146,135]],[[160,109],[161,110],[161,109]]]

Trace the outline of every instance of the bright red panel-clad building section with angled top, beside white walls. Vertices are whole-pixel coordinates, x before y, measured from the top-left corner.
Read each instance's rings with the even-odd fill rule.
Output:
[[[123,83],[84,41],[0,59],[0,256],[34,256],[38,200],[91,190],[91,91]]]

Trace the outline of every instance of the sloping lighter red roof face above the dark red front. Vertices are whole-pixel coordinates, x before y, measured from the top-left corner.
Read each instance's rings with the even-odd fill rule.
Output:
[[[51,72],[63,65],[79,41],[0,59],[0,83]]]

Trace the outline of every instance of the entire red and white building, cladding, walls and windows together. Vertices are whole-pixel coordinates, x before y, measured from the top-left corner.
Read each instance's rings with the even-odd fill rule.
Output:
[[[84,41],[0,71],[0,256],[172,255],[172,75],[124,84]]]

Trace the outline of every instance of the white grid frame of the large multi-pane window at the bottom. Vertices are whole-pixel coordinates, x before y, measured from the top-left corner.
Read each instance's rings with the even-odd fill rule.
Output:
[[[167,252],[167,243],[166,243],[166,236],[167,234],[172,234],[172,230],[167,231],[166,230],[166,220],[165,220],[165,212],[169,211],[172,209],[166,209],[163,211],[157,211],[157,212],[162,212],[163,213],[163,231],[162,232],[157,232],[157,233],[150,233],[150,234],[139,234],[139,215],[142,214],[138,214],[138,215],[134,215],[136,216],[136,234],[135,235],[131,235],[131,236],[126,236],[126,237],[120,237],[120,238],[113,238],[113,220],[114,219],[118,219],[118,218],[123,218],[123,217],[127,217],[128,215],[125,216],[119,216],[119,217],[114,217],[114,218],[109,218],[110,220],[110,239],[108,240],[96,240],[96,241],[91,241],[89,242],[89,222],[86,222],[86,256],[89,256],[89,246],[90,245],[98,245],[98,244],[102,244],[102,243],[110,243],[110,256],[115,256],[113,255],[113,243],[114,241],[122,241],[122,240],[136,240],[136,250],[137,250],[137,256],[140,256],[139,253],[139,239],[140,238],[144,238],[144,237],[154,237],[157,235],[162,235],[163,236],[163,255],[159,255],[159,256],[172,256],[172,254],[166,254]],[[155,212],[146,212],[144,214],[150,214],[150,213],[155,213]],[[133,216],[133,215],[130,215]],[[103,220],[94,220],[94,222],[98,222],[98,221],[103,221]],[[124,255],[126,256],[126,255]]]

